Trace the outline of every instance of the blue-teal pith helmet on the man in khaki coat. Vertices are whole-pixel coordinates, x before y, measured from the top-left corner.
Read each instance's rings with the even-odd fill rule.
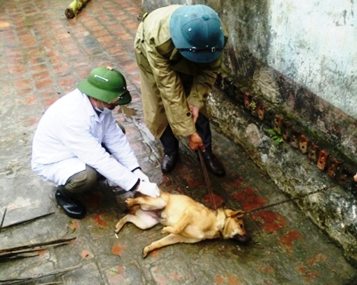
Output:
[[[211,62],[224,48],[219,16],[206,5],[177,8],[170,18],[170,34],[177,51],[194,62]]]

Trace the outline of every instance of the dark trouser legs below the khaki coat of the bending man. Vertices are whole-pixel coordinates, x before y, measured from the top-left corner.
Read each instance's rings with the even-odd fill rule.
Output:
[[[212,135],[210,122],[205,115],[199,113],[196,121],[196,130],[198,135],[202,138],[203,144],[205,146],[206,152],[204,156],[209,156],[212,154]],[[164,133],[160,138],[161,143],[164,146],[165,155],[173,156],[178,154],[178,140],[172,133],[170,125],[167,125]]]

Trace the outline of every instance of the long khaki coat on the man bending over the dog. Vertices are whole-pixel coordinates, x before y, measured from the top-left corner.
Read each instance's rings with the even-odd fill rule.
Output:
[[[145,14],[135,39],[145,123],[155,138],[161,137],[167,124],[175,136],[195,133],[188,104],[203,107],[221,65],[220,57],[199,64],[187,60],[175,49],[169,23],[178,7],[181,5]]]

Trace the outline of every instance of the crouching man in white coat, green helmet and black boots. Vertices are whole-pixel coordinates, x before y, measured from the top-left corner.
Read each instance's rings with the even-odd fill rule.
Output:
[[[31,167],[44,181],[57,185],[55,198],[66,215],[83,218],[76,199],[104,177],[126,191],[159,196],[159,188],[141,171],[129,142],[111,111],[131,96],[123,75],[96,68],[78,88],[43,114],[32,144]]]

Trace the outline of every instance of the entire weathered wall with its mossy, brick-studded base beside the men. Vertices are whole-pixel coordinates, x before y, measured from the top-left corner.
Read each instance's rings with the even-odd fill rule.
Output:
[[[336,185],[297,205],[357,261],[353,0],[143,0],[143,10],[196,3],[214,8],[229,32],[211,119],[287,194]]]

